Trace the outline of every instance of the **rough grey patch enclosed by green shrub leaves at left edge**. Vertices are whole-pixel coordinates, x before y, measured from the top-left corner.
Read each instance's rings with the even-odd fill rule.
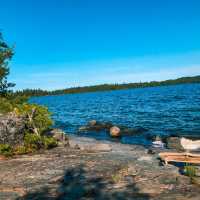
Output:
[[[24,139],[24,120],[12,114],[0,115],[0,144],[22,144]]]

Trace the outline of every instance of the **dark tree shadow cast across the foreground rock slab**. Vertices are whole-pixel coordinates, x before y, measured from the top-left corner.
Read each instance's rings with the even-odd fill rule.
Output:
[[[48,184],[38,191],[28,193],[20,198],[24,200],[60,199],[60,200],[148,200],[150,196],[139,191],[136,184],[123,187],[109,177],[102,177],[86,171],[83,166],[66,170],[64,176],[56,183]],[[18,199],[19,200],[19,199]]]

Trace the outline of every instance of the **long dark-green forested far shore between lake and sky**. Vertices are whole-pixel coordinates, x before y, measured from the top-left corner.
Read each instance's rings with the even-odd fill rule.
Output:
[[[54,90],[54,91],[47,91],[41,89],[25,89],[22,91],[16,91],[15,94],[25,95],[25,96],[47,96],[47,95],[75,94],[84,92],[168,86],[168,85],[187,84],[187,83],[200,83],[200,76],[182,77],[166,81],[151,81],[151,82],[124,83],[124,84],[102,84],[102,85],[85,86],[85,87],[73,87],[73,88]]]

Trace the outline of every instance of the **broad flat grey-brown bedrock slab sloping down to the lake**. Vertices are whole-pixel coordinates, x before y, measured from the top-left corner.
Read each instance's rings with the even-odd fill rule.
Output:
[[[0,160],[0,199],[198,200],[179,170],[139,145],[70,136],[68,146]]]

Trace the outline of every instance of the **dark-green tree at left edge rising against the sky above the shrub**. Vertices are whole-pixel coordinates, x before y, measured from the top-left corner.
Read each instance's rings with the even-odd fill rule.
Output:
[[[9,92],[9,88],[15,86],[13,83],[8,83],[7,76],[9,75],[8,61],[13,56],[13,49],[10,48],[3,40],[0,33],[0,96],[5,97]]]

